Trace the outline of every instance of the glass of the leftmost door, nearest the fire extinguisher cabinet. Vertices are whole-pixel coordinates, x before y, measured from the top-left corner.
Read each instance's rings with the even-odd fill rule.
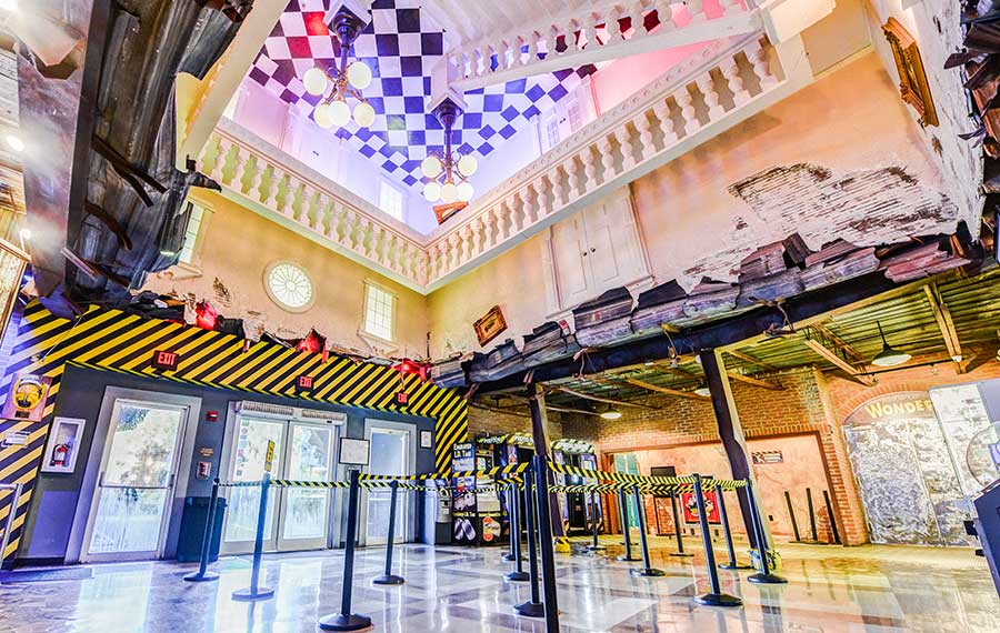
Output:
[[[186,406],[114,401],[84,561],[160,556],[187,419]]]

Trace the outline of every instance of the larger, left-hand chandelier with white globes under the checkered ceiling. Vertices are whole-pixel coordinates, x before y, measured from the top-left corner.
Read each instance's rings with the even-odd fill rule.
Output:
[[[343,127],[351,118],[359,127],[367,128],[374,122],[374,108],[364,99],[361,91],[371,83],[371,69],[358,60],[348,63],[348,51],[364,23],[350,11],[341,10],[333,17],[331,26],[340,41],[340,68],[337,68],[334,60],[332,68],[310,68],[302,77],[302,83],[310,94],[327,94],[327,90],[332,87],[329,94],[316,107],[312,118],[320,128]],[[348,104],[348,97],[358,100],[353,114]]]

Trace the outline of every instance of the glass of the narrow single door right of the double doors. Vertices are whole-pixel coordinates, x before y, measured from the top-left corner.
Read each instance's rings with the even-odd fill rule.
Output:
[[[410,432],[398,429],[371,429],[371,459],[369,472],[372,474],[407,474],[410,472]],[[388,488],[376,488],[368,492],[368,521],[366,544],[379,545],[389,541],[389,509],[392,491]],[[396,534],[397,543],[407,540],[407,518],[409,516],[409,495],[406,491],[397,493]]]

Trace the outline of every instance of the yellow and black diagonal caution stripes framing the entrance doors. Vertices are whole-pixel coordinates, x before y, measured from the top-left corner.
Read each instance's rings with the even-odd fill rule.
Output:
[[[244,350],[246,344],[246,340],[232,334],[144,319],[118,310],[92,308],[69,320],[56,316],[38,302],[30,303],[18,328],[7,373],[0,379],[0,392],[9,389],[17,372],[44,375],[52,382],[41,422],[0,421],[0,435],[23,431],[29,438],[27,444],[0,449],[0,482],[23,484],[14,510],[11,539],[0,562],[13,555],[20,544],[46,434],[68,364],[431,418],[434,420],[434,469],[438,472],[447,471],[451,448],[468,436],[467,402],[457,390],[441,389],[412,374],[400,381],[400,373],[392,368],[348,358],[333,355],[323,362],[319,353],[297,352],[278,343],[259,341]],[[177,353],[180,358],[177,369],[154,368],[152,359],[157,351]],[[300,375],[312,376],[311,392],[296,389]],[[402,405],[396,402],[396,395],[401,391],[408,395],[408,403]],[[4,510],[0,499],[0,521],[6,520],[7,512],[9,510]]]

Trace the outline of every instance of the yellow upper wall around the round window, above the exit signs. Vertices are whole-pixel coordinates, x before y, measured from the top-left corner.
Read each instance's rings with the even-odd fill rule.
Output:
[[[283,338],[299,338],[314,326],[332,344],[368,352],[368,344],[358,331],[364,305],[364,281],[370,280],[398,297],[396,339],[400,349],[392,355],[424,355],[428,331],[424,297],[216,192],[192,191],[192,200],[213,210],[201,251],[204,274],[174,279],[167,271],[150,275],[146,289],[192,300],[208,299],[221,314],[243,319],[247,334],[253,339],[262,330]],[[293,261],[309,272],[316,289],[316,301],[309,310],[287,312],[268,297],[264,269],[276,260]]]

